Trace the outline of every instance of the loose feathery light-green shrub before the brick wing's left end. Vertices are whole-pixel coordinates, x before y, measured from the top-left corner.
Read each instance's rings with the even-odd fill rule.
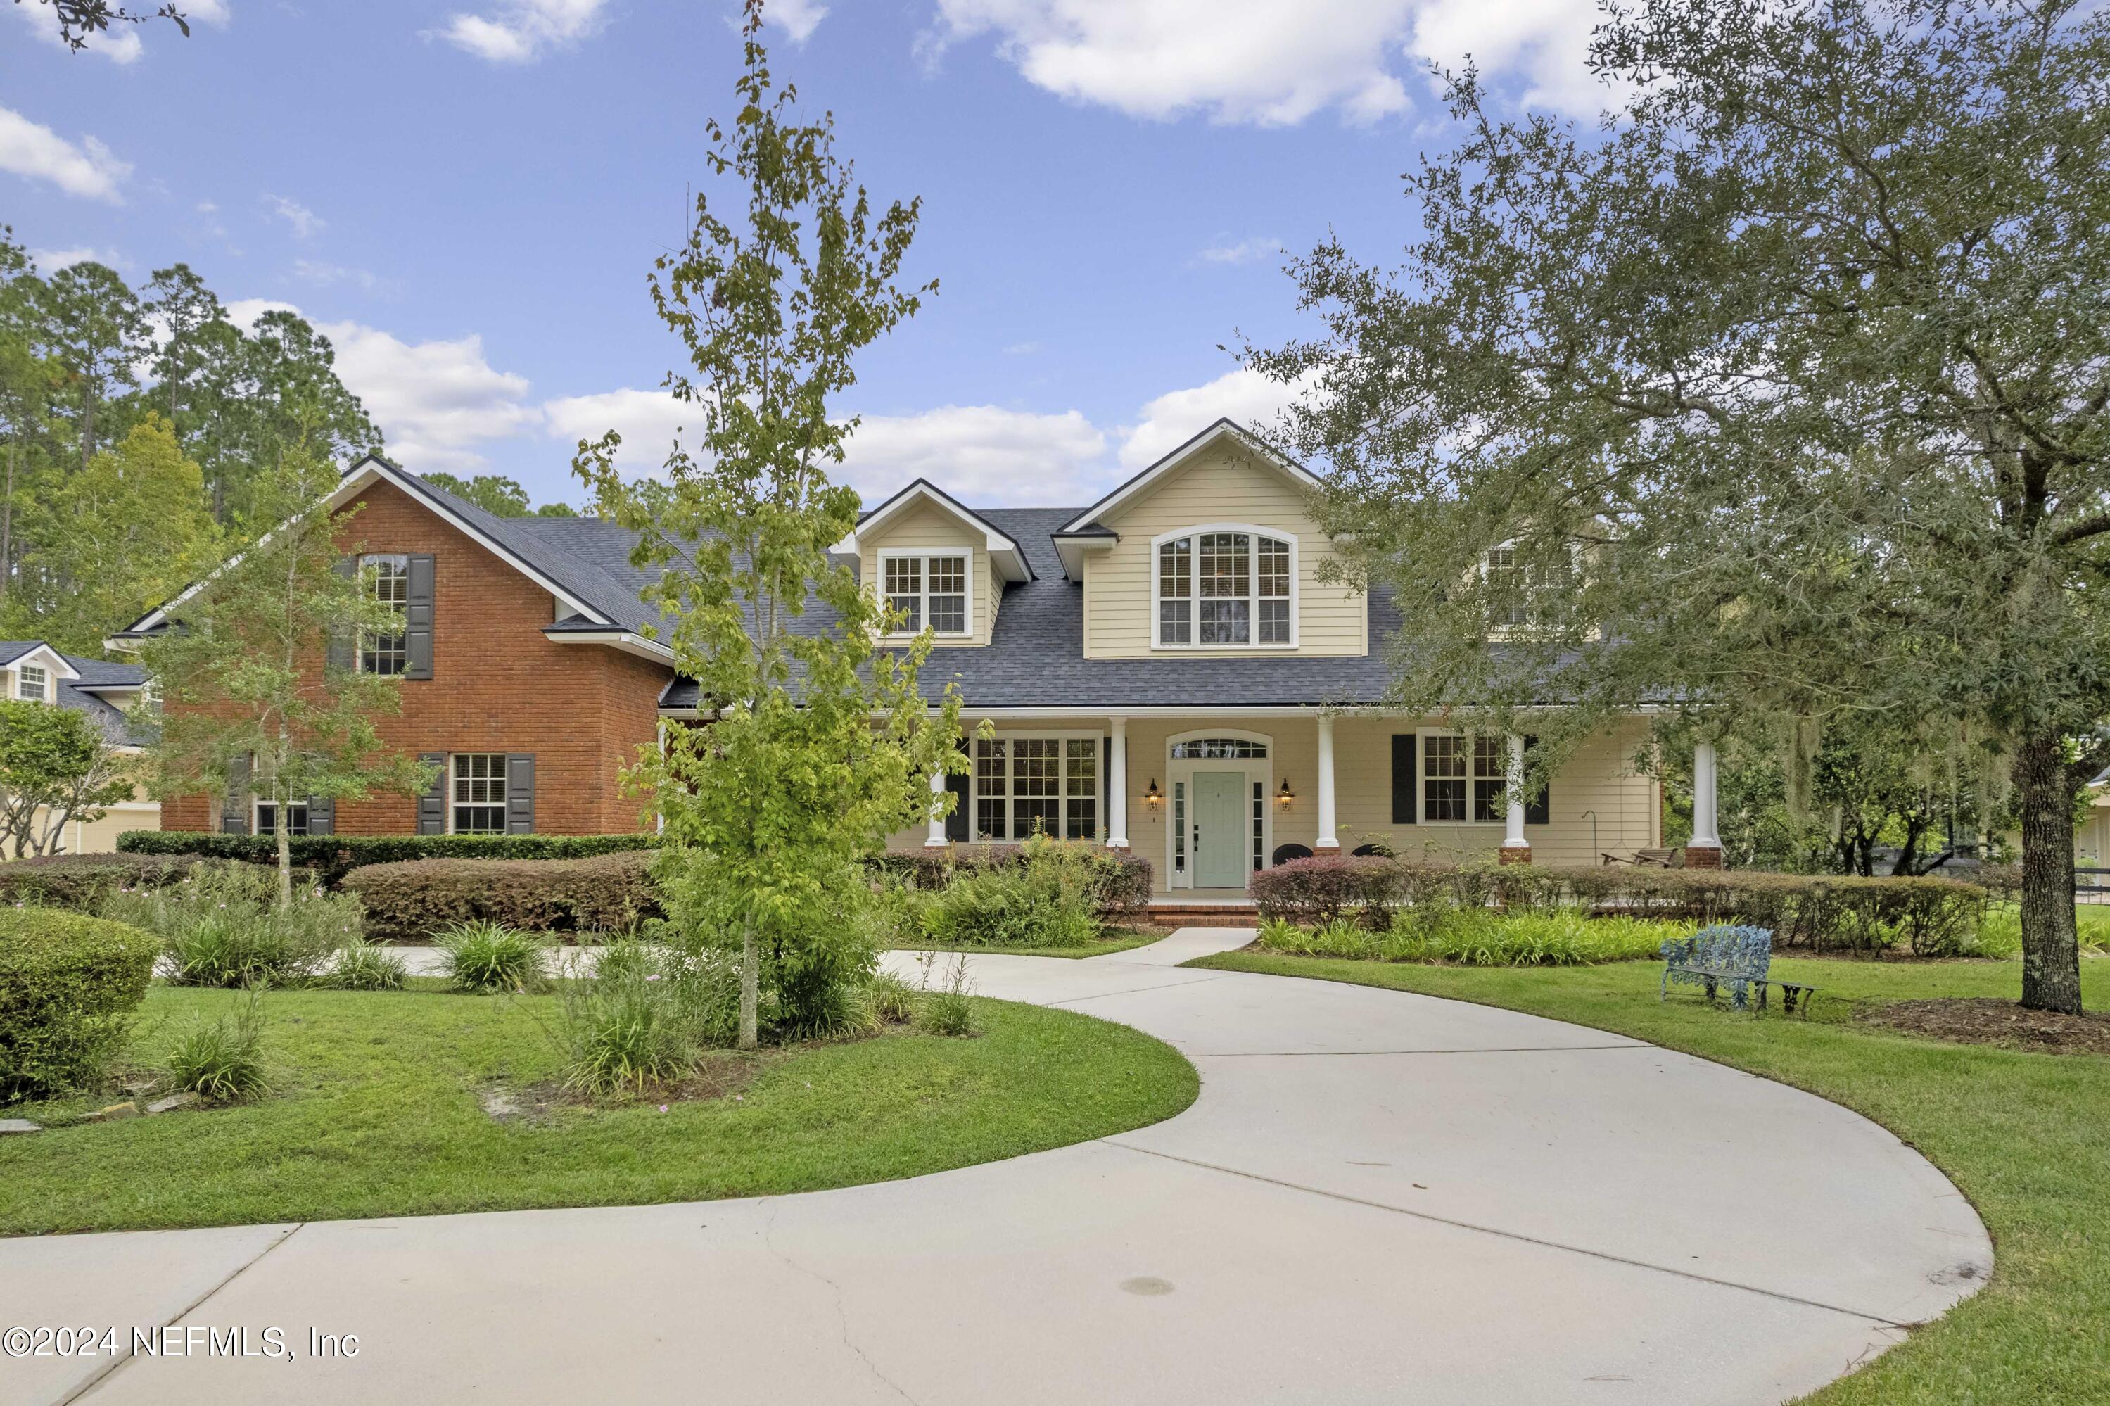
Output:
[[[300,986],[361,929],[359,899],[295,889],[281,908],[276,876],[249,866],[196,866],[162,889],[112,893],[103,916],[158,935],[179,986]]]

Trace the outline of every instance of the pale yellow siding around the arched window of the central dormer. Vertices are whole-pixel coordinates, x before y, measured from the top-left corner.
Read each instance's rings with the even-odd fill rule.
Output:
[[[1144,498],[1101,519],[1120,543],[1085,553],[1085,657],[1148,654],[1367,654],[1369,612],[1363,595],[1321,583],[1319,564],[1334,545],[1304,507],[1304,492],[1251,456],[1220,445],[1167,475]],[[1152,648],[1150,538],[1213,521],[1274,528],[1298,543],[1298,648],[1156,650]]]

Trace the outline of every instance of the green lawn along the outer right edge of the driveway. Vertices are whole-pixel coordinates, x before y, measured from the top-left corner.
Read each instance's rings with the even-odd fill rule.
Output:
[[[1948,1045],[1848,1022],[1855,1001],[2013,999],[2021,990],[2019,963],[1775,961],[1779,977],[1823,988],[1810,1020],[1751,1020],[1709,1009],[1694,994],[1658,1003],[1654,963],[1473,969],[1247,950],[1188,965],[1388,986],[1551,1015],[1846,1104],[1920,1148],[1971,1197],[1994,1237],[1994,1277],[1895,1351],[1808,1400],[2110,1402],[2110,1060]],[[2089,1009],[2110,1005],[2110,961],[2085,961],[2080,988]]]

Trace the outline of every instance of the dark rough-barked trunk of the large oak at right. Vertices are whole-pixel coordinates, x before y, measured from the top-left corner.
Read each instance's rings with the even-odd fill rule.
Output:
[[[2057,733],[2015,752],[2021,804],[2021,1003],[2080,1013],[2080,946],[2074,937],[2074,783]]]

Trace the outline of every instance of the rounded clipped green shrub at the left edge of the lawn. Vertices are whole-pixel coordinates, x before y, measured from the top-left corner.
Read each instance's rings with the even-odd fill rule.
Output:
[[[0,1102],[103,1079],[156,952],[152,933],[122,923],[0,908]]]

